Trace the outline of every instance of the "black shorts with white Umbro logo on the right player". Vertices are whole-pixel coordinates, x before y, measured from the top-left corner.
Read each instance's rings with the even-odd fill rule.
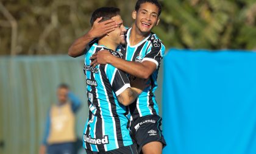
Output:
[[[134,119],[130,125],[132,139],[137,143],[138,153],[141,152],[143,145],[149,142],[162,142],[163,147],[166,146],[165,138],[163,138],[162,117],[157,115],[148,115]]]

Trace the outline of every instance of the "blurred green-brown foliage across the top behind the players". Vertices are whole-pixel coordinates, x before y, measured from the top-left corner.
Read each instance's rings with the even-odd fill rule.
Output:
[[[17,23],[16,54],[66,54],[70,44],[90,29],[90,15],[102,6],[121,9],[126,26],[136,0],[2,0]],[[154,32],[166,47],[256,49],[254,0],[163,0]],[[1,9],[0,9],[1,10]],[[0,54],[11,53],[11,19],[0,12]],[[13,21],[14,22],[14,21]],[[15,42],[15,41],[14,41]]]

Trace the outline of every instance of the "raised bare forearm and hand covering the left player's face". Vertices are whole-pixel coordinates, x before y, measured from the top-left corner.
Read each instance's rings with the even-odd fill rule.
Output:
[[[101,19],[102,17],[96,19],[91,29],[87,33],[85,33],[85,35],[83,35],[80,38],[77,38],[77,40],[75,40],[73,44],[71,44],[71,46],[68,49],[69,56],[79,57],[80,55],[84,55],[85,52],[87,52],[87,45],[91,41],[93,41],[94,38],[102,37],[106,33],[112,32],[113,30],[115,30],[115,27],[117,27],[114,19],[109,19],[107,21],[99,23]]]

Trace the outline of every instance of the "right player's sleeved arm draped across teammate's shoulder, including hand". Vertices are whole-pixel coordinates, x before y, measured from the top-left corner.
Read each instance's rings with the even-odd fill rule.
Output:
[[[142,79],[148,79],[149,76],[155,71],[160,64],[165,52],[165,46],[158,40],[157,44],[153,44],[151,50],[143,58],[142,63],[135,61],[126,61],[121,58],[115,57],[109,52],[101,51],[97,54],[93,54],[91,57],[91,65],[96,66],[98,64],[111,64],[118,69],[121,69],[128,74],[140,77]]]

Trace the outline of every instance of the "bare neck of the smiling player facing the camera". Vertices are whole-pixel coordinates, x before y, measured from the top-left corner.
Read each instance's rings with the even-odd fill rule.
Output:
[[[133,24],[132,29],[130,30],[130,37],[129,37],[130,45],[135,46],[136,44],[143,41],[149,35],[150,35],[150,32],[143,33],[138,29],[138,27],[135,26],[135,24]]]

